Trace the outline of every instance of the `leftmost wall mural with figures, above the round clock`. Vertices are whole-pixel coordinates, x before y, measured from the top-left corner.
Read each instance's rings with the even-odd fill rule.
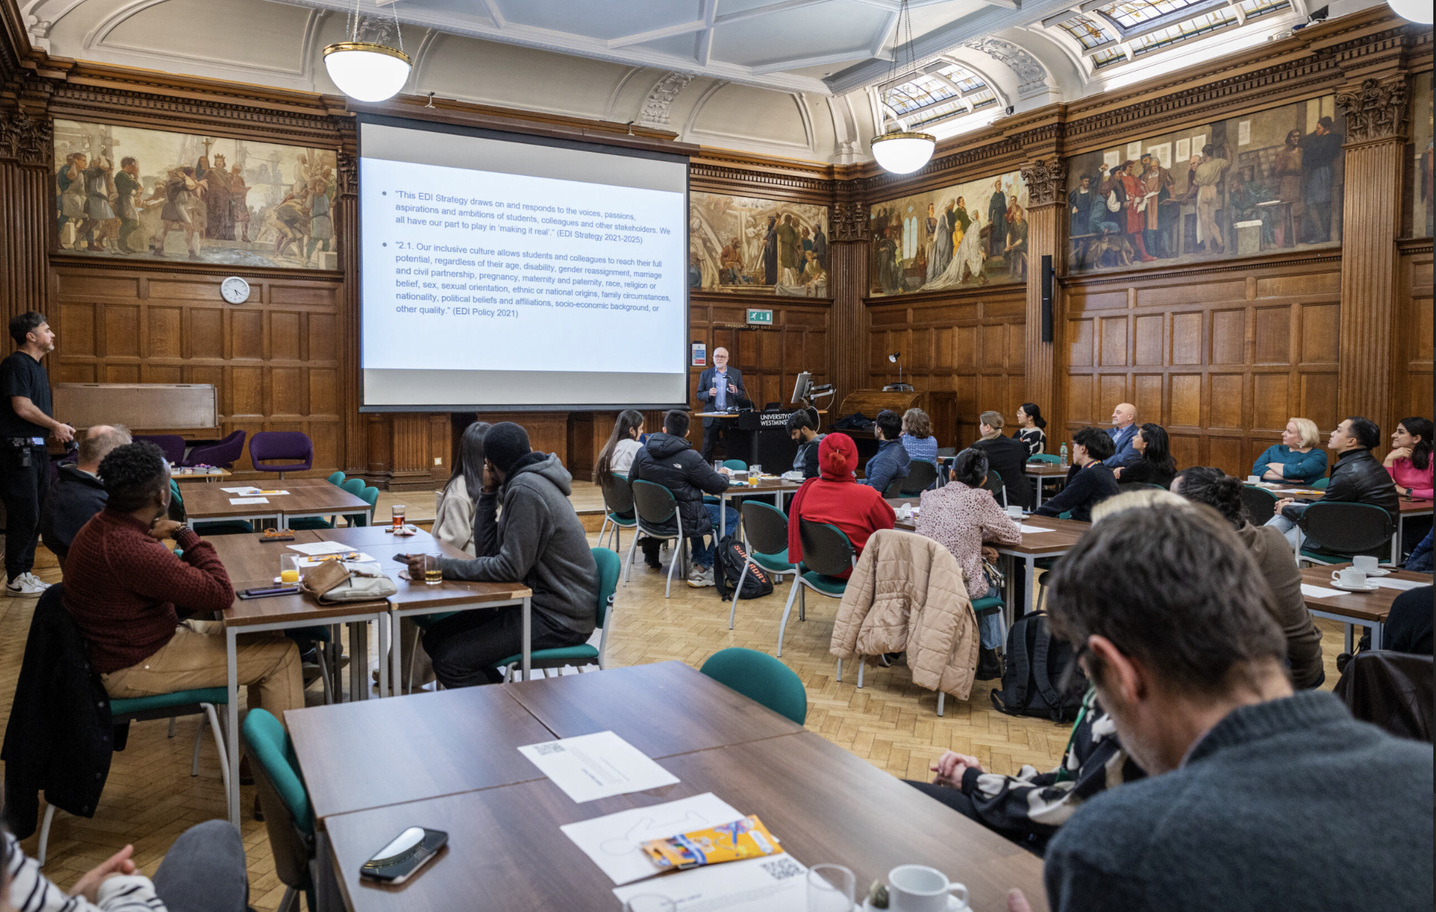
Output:
[[[333,149],[55,122],[63,253],[339,269]]]

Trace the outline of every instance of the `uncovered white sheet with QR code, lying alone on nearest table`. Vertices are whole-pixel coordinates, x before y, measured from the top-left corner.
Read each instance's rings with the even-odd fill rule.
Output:
[[[676,776],[612,731],[526,744],[518,753],[579,804],[678,783]]]

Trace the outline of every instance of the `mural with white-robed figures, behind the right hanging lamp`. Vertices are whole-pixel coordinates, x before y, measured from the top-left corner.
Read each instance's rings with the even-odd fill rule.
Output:
[[[1027,280],[1027,184],[1017,171],[869,207],[869,293]]]

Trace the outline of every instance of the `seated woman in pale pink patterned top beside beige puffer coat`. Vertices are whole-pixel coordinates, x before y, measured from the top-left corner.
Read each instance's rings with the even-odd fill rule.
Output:
[[[987,481],[988,460],[981,450],[964,450],[952,465],[952,484],[935,491],[922,493],[922,513],[918,516],[918,534],[941,541],[962,564],[962,576],[968,585],[968,597],[997,596],[982,572],[982,559],[997,560],[997,552],[984,541],[999,544],[1021,544],[1022,529],[1002,511],[992,491],[982,487]],[[997,646],[1002,643],[1002,626],[997,612],[978,618],[981,649],[978,651],[978,681],[1002,676],[1002,665],[997,659]]]

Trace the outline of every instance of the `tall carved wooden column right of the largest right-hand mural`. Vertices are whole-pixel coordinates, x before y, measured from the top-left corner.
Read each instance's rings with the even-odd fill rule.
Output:
[[[1337,414],[1364,415],[1383,435],[1400,418],[1391,371],[1407,95],[1404,73],[1337,92],[1347,122]]]

